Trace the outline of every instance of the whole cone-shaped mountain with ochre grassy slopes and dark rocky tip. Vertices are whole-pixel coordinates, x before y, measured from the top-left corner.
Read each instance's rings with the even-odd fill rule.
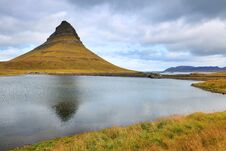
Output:
[[[56,74],[131,74],[88,50],[67,21],[56,27],[46,42],[32,51],[0,63],[0,71]]]

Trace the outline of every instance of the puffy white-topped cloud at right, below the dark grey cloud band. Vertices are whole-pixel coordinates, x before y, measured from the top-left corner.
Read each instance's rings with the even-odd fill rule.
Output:
[[[199,24],[184,20],[146,27],[144,41],[165,44],[171,51],[190,51],[195,54],[226,53],[226,21],[214,19]]]

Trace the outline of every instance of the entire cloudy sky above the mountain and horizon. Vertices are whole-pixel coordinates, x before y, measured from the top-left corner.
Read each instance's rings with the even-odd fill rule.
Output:
[[[225,0],[0,0],[0,60],[42,44],[62,20],[129,69],[226,66]]]

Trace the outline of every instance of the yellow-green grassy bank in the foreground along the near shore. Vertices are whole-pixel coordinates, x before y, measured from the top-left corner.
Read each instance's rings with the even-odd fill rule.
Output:
[[[224,151],[225,148],[226,111],[113,127],[44,141],[14,151]]]

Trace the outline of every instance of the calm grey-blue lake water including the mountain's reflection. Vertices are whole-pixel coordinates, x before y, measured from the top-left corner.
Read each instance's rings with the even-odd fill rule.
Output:
[[[196,111],[226,110],[226,96],[194,81],[25,75],[0,78],[0,149]]]

